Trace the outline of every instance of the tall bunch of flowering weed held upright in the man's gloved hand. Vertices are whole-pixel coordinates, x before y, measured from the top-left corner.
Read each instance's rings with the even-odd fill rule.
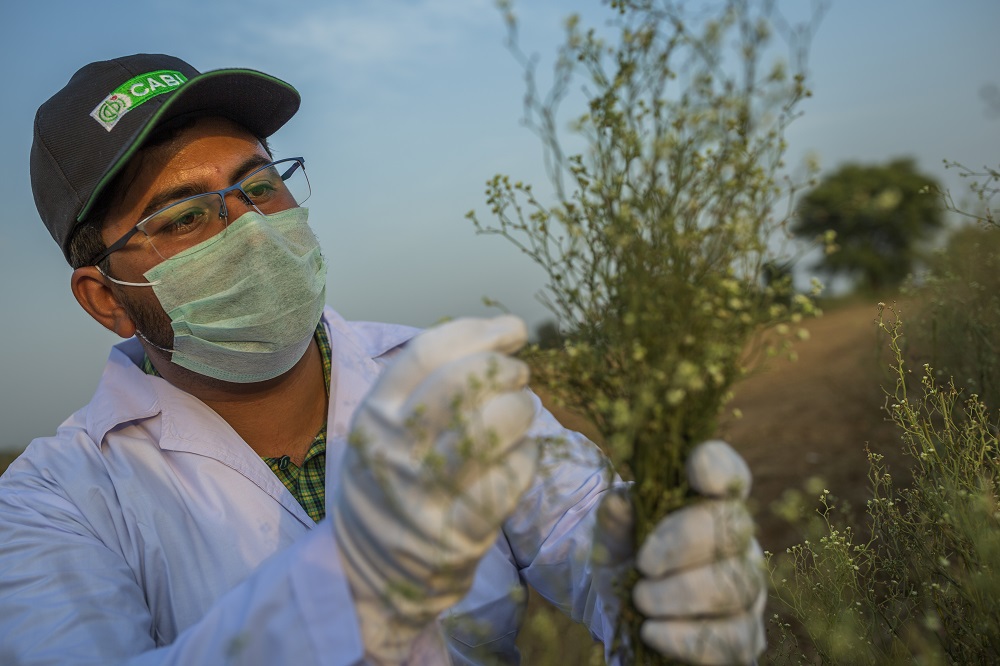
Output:
[[[554,203],[496,176],[486,191],[496,223],[469,216],[545,271],[541,297],[564,345],[526,355],[534,382],[593,422],[615,470],[634,482],[641,543],[687,501],[685,458],[715,432],[731,384],[787,342],[756,334],[780,325],[791,335],[814,312],[787,274],[762,277],[787,259],[774,251],[794,190],[780,175],[783,134],[809,94],[811,26],[788,27],[766,0],[696,10],[614,0],[617,41],[571,17],[553,87],[541,95],[513,11],[501,6]],[[789,54],[771,60],[776,29]],[[559,107],[576,86],[586,108],[570,128],[585,149],[572,153]],[[767,349],[748,357],[755,339]],[[631,663],[662,663],[639,639],[634,581],[633,572],[621,589],[618,648]]]

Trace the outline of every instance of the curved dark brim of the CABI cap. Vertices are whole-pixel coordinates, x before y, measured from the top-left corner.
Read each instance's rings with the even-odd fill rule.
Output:
[[[299,93],[288,83],[253,69],[217,69],[192,77],[156,109],[104,172],[77,215],[82,222],[116,175],[158,126],[185,115],[216,115],[267,138],[299,109]]]

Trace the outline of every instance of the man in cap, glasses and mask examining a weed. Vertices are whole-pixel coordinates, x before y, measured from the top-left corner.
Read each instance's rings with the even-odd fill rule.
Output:
[[[511,662],[526,583],[610,645],[626,489],[526,390],[516,318],[414,337],[324,307],[304,161],[266,143],[298,105],[133,55],[39,108],[42,221],[127,340],[0,480],[0,663]],[[722,443],[690,474],[749,486]],[[751,531],[711,499],[643,544],[650,645],[760,652]]]

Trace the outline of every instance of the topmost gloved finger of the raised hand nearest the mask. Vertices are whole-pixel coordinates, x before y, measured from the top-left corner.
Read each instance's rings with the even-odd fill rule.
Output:
[[[455,319],[416,336],[375,383],[369,402],[391,413],[432,372],[451,361],[484,351],[511,354],[528,340],[524,322],[513,315]]]

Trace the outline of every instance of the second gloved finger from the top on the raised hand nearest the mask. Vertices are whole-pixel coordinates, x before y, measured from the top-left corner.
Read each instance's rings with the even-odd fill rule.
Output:
[[[527,387],[523,361],[496,352],[477,352],[430,374],[403,403],[400,418],[431,433],[454,424],[490,398]]]

